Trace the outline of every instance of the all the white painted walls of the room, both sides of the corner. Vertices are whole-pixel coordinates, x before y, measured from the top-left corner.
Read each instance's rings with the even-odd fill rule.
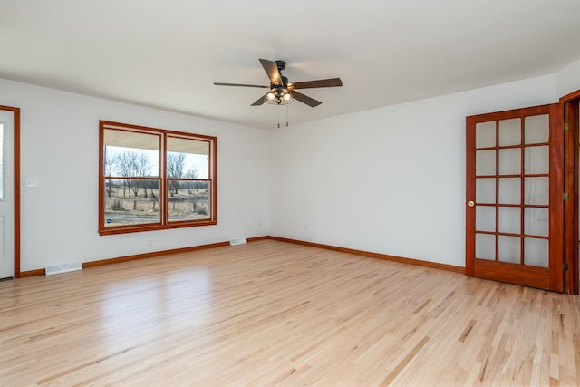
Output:
[[[0,80],[22,110],[22,270],[263,235],[464,266],[465,117],[556,102],[575,66],[277,131]],[[100,237],[101,119],[218,136],[218,225]]]

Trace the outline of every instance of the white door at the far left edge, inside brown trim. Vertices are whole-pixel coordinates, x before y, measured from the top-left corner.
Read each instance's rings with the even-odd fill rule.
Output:
[[[14,112],[0,111],[0,279],[14,276]]]

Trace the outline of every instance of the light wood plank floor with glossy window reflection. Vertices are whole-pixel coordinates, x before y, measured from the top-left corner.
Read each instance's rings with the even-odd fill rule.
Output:
[[[580,384],[580,298],[263,240],[0,282],[0,385]]]

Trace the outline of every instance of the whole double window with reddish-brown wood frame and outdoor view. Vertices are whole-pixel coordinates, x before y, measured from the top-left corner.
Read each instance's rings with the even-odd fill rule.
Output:
[[[99,130],[101,235],[218,223],[216,137],[110,121]]]

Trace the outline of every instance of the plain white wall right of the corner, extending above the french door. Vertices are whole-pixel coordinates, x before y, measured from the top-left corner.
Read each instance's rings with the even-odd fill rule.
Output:
[[[271,132],[270,235],[465,266],[465,118],[557,102],[556,75]]]

